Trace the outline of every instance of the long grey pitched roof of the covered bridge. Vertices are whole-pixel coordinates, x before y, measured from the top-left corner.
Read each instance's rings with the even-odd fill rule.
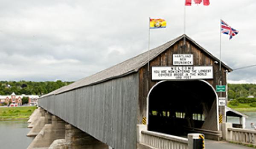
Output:
[[[186,37],[187,41],[192,42],[195,44],[195,46],[198,47],[201,51],[206,53],[209,57],[212,59],[219,61],[217,57],[212,55],[210,52],[208,52],[206,49],[204,49],[202,46],[200,46],[198,43],[196,43],[194,40],[192,40],[190,37],[188,37],[186,34],[180,35],[179,37],[164,43],[161,46],[158,46],[154,49],[151,49],[149,52],[144,52],[142,54],[139,54],[135,57],[132,57],[128,60],[125,60],[121,63],[118,63],[108,69],[105,69],[101,72],[97,72],[96,74],[90,75],[88,77],[85,77],[81,80],[78,80],[68,86],[64,86],[60,89],[57,89],[53,92],[50,92],[42,97],[46,97],[49,95],[55,95],[60,94],[62,92],[68,92],[70,90],[78,89],[84,86],[90,86],[93,84],[101,83],[107,80],[111,80],[114,78],[122,77],[128,74],[131,74],[133,72],[137,72],[141,67],[143,67],[145,64],[148,63],[148,53],[149,53],[149,60],[153,60],[155,57],[157,57],[159,54],[164,52],[166,49],[177,43],[179,40],[183,39],[183,37]],[[227,66],[225,63],[221,62],[221,65],[227,69],[229,72],[232,72],[233,70]]]

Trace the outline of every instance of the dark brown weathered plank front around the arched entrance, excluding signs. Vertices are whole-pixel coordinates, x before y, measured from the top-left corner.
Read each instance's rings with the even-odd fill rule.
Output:
[[[213,66],[213,77],[212,80],[206,80],[215,89],[216,85],[219,84],[219,65],[214,63],[214,59],[209,57],[207,53],[198,48],[194,43],[186,41],[186,49],[183,48],[183,39],[179,40],[177,43],[166,49],[162,54],[159,54],[153,60],[150,61],[150,71],[148,72],[148,65],[143,66],[139,69],[139,100],[137,106],[137,124],[142,124],[143,117],[147,116],[147,96],[149,90],[159,81],[154,81],[151,79],[151,68],[152,66],[174,66],[172,65],[172,54],[193,54],[193,66]],[[226,80],[226,69],[224,67],[222,70],[222,84],[227,84]],[[146,82],[149,76],[149,89],[146,88]],[[226,97],[224,95],[222,97]],[[212,106],[216,107],[216,100]],[[217,110],[215,108],[214,115],[217,116]],[[217,121],[217,120],[216,120]],[[218,124],[215,124],[217,128]],[[213,129],[216,129],[213,128]]]

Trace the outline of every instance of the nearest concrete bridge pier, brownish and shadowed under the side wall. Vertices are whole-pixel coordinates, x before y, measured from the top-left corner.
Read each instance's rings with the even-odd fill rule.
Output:
[[[109,149],[108,145],[68,124],[65,139],[55,140],[49,149]]]

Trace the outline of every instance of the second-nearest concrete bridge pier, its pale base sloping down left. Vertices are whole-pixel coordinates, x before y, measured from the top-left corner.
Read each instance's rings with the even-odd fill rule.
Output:
[[[42,148],[48,149],[56,139],[65,138],[66,122],[56,116],[45,114],[45,126],[41,129],[35,139],[30,143],[28,149]]]

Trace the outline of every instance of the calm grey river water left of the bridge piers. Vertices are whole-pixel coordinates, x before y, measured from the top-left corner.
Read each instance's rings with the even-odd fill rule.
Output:
[[[33,138],[26,137],[29,132],[27,120],[0,120],[0,149],[26,149]]]

